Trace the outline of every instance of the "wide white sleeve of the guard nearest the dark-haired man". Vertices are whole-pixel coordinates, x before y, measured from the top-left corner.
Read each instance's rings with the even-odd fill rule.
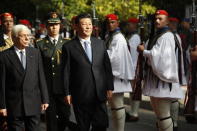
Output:
[[[107,50],[113,75],[123,80],[134,79],[134,66],[129,53],[127,42],[121,33],[116,34]]]

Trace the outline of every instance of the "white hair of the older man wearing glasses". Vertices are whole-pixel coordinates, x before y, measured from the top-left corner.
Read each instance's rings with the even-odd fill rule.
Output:
[[[31,31],[30,31],[30,29],[29,29],[27,26],[22,25],[22,24],[19,24],[19,25],[15,25],[15,26],[12,28],[12,36],[18,37],[18,34],[19,34],[21,31],[27,31],[29,34],[31,34]]]

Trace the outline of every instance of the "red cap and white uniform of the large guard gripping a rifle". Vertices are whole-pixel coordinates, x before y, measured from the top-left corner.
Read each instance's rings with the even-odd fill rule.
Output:
[[[157,21],[159,18],[168,19],[165,10],[158,10],[155,15]],[[176,48],[180,49],[180,58],[176,56]],[[167,24],[158,28],[156,35],[149,40],[143,55],[147,59],[143,94],[150,96],[159,130],[172,131],[171,102],[184,96],[180,88],[182,67],[177,62],[183,58],[181,46],[177,45],[175,36],[169,31]]]

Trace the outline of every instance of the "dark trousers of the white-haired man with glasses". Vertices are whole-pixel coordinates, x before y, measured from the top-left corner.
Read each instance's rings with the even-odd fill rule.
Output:
[[[40,114],[34,116],[8,116],[8,131],[40,131]]]

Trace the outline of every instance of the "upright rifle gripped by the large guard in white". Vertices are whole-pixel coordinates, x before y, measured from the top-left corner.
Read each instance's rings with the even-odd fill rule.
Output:
[[[140,38],[141,45],[145,43],[145,35],[144,35],[144,16],[142,15],[142,0],[139,0],[139,27],[140,27]],[[139,53],[137,66],[135,70],[135,79],[133,82],[133,100],[141,100],[142,99],[142,81],[143,81],[143,54]]]

